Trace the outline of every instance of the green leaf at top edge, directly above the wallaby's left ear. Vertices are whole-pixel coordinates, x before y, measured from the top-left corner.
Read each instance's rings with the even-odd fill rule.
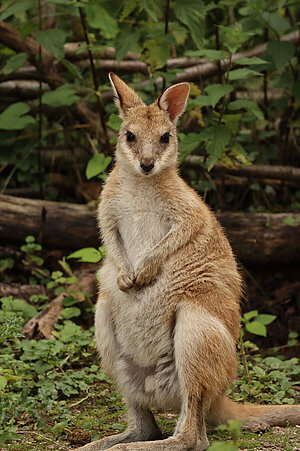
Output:
[[[106,9],[95,2],[86,5],[88,24],[92,28],[101,30],[104,39],[114,39],[119,27],[117,21],[106,11]]]

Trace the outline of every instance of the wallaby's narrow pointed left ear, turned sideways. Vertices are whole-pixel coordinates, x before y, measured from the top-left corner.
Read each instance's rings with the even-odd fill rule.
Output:
[[[119,108],[121,117],[126,115],[126,112],[130,108],[138,105],[144,105],[144,102],[139,98],[136,92],[129,88],[129,86],[127,86],[121,78],[113,72],[110,72],[108,76],[115,93],[115,102]]]

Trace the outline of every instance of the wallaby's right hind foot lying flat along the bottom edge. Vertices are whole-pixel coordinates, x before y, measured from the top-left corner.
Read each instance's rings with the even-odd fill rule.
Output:
[[[209,442],[206,437],[194,444],[181,440],[178,436],[154,442],[122,443],[113,446],[111,451],[204,451],[208,447]]]

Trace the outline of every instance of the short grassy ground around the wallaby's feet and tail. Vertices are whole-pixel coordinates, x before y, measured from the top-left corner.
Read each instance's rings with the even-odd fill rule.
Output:
[[[96,440],[124,430],[126,415],[122,398],[109,381],[93,385],[90,395],[81,399],[73,398],[68,402],[71,412],[70,425],[65,427],[57,422],[51,422],[50,419],[40,427],[24,424],[19,429],[20,438],[0,446],[0,450],[69,450],[89,442],[90,439]],[[170,412],[155,412],[155,417],[164,437],[171,435],[177,416]],[[23,418],[24,422],[25,420]],[[298,450],[299,432],[300,429],[297,427],[274,427],[264,433],[242,431],[238,439],[239,449]],[[231,436],[228,431],[208,429],[208,438],[210,443],[229,442]]]

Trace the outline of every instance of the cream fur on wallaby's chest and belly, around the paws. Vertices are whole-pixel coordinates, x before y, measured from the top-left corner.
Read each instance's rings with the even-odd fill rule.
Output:
[[[149,191],[123,192],[117,211],[120,244],[136,270],[147,253],[167,235],[170,221],[155,193],[150,195]],[[170,326],[164,314],[164,309],[168,310],[164,294],[168,273],[168,265],[164,263],[149,286],[124,293],[117,285],[118,269],[109,252],[100,272],[101,287],[111,298],[111,314],[122,353],[142,367],[155,365],[172,346]]]

